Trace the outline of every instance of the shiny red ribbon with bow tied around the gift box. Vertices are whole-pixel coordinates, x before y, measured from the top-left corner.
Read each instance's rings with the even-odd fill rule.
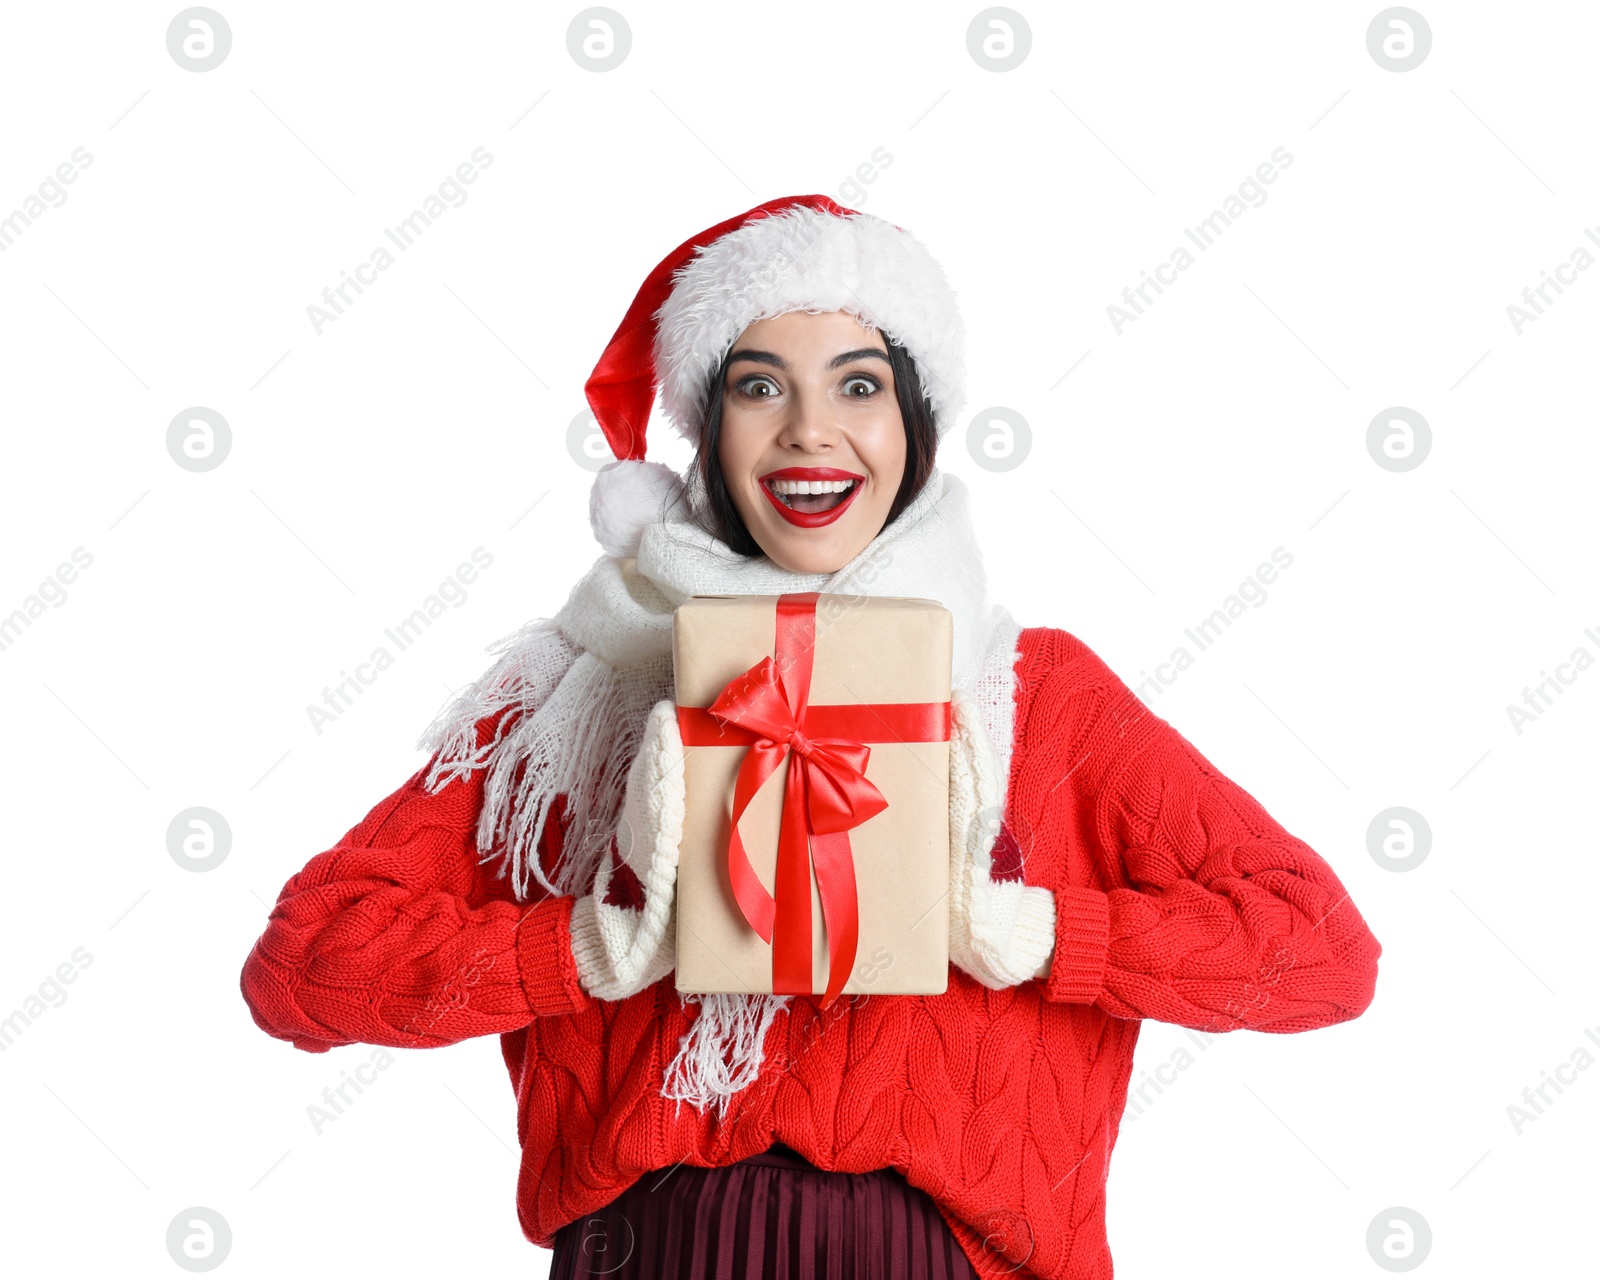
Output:
[[[813,707],[816,600],[814,590],[778,597],[776,658],[762,658],[730,680],[710,707],[678,707],[678,730],[686,747],[749,747],[733,787],[728,880],[744,918],[773,947],[774,994],[811,994],[811,867],[816,867],[827,926],[826,1010],[856,963],[859,918],[850,830],[888,808],[867,779],[866,744],[947,742],[950,704]],[[786,757],[773,894],[744,851],[739,818]]]

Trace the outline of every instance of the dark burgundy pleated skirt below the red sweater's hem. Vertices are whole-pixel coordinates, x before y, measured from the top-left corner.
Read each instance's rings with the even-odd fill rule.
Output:
[[[555,1232],[550,1280],[978,1280],[899,1170],[830,1173],[782,1142],[646,1173]]]

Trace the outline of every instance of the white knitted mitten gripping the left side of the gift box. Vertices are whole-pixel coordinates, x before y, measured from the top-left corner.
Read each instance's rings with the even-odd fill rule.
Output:
[[[578,981],[595,998],[626,1000],[672,973],[682,838],[683,739],[677,707],[662,699],[627,771],[616,838],[594,888],[573,902]]]

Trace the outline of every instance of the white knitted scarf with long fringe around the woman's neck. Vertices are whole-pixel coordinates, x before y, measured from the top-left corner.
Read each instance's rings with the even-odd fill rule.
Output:
[[[517,901],[530,878],[581,896],[616,832],[629,765],[645,717],[672,698],[672,611],[693,595],[837,592],[941,602],[954,618],[952,683],[979,709],[998,774],[1010,773],[1018,624],[987,600],[966,486],[934,470],[899,517],[832,574],[797,574],[744,557],[706,530],[698,498],[672,502],[650,523],[635,558],[602,555],[550,619],[528,622],[493,646],[499,659],[429,726],[426,786],[486,768],[477,846],[504,859]],[[506,707],[494,741],[477,725]],[[565,834],[550,875],[538,843],[563,797]],[[1003,795],[1002,795],[1003,802]],[[682,994],[699,1003],[662,1096],[726,1109],[760,1070],[766,1029],[790,997]]]

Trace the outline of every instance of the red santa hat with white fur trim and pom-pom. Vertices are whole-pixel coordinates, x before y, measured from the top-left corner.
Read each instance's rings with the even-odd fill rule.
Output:
[[[674,429],[699,445],[707,381],[757,320],[845,310],[917,362],[942,437],[965,402],[965,331],[939,264],[910,232],[826,195],[787,195],[690,237],[645,277],[584,384],[618,462],[595,477],[590,525],[611,555],[634,555],[645,523],[683,499],[682,480],[645,462],[661,390]]]

